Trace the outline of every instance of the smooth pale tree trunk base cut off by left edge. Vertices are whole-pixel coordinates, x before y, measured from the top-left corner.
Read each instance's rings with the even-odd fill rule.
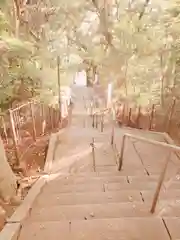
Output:
[[[3,141],[0,137],[0,198],[10,202],[16,195],[16,177],[7,161]]]

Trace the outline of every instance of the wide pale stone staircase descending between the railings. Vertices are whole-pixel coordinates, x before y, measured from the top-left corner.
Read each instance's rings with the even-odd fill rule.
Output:
[[[53,180],[49,178],[22,223],[18,240],[179,240],[180,179],[176,157],[171,157],[156,211],[151,214],[152,199],[167,153],[138,145],[142,162],[129,142],[123,169],[118,171],[110,145],[111,130],[106,128],[100,133],[91,127],[82,127],[77,118],[73,122],[69,130],[72,153],[68,152],[67,145],[60,146],[61,154],[73,154],[73,146],[88,147],[95,137],[95,171],[90,151],[75,162],[73,168]],[[119,146],[121,138],[122,132],[115,139]],[[150,152],[147,149],[151,149]],[[59,155],[57,150],[57,159]],[[57,170],[57,166],[54,169]]]

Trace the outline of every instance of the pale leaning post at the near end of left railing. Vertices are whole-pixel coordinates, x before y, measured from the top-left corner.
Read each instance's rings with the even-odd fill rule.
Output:
[[[12,132],[12,140],[13,140],[13,145],[15,149],[15,158],[16,158],[16,165],[20,165],[20,158],[19,158],[19,149],[17,145],[17,137],[16,137],[16,130],[15,130],[15,125],[14,125],[14,119],[13,119],[13,111],[9,110],[9,115],[10,115],[10,127],[11,127],[11,132]]]

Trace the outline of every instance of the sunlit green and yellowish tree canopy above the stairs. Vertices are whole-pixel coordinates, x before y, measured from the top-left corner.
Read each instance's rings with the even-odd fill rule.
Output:
[[[0,10],[3,104],[22,83],[32,96],[57,94],[85,69],[117,97],[162,106],[179,92],[179,0],[12,0]]]

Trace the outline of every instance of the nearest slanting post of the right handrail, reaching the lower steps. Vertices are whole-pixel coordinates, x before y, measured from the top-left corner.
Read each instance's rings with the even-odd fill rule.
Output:
[[[168,167],[170,156],[171,156],[171,151],[169,152],[168,157],[166,158],[164,168],[163,168],[162,173],[159,177],[158,185],[157,185],[157,188],[156,188],[156,191],[155,191],[155,194],[154,194],[154,197],[153,197],[153,201],[152,201],[152,206],[151,206],[151,210],[150,210],[151,213],[155,212],[157,201],[158,201],[159,194],[160,194],[160,191],[161,191],[161,187],[162,187],[165,175],[166,175],[166,170],[167,170],[167,167]]]

